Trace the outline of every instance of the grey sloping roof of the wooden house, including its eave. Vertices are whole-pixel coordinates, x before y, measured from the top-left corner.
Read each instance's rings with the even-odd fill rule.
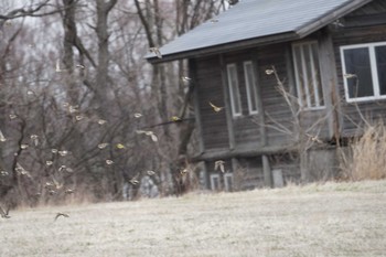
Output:
[[[162,60],[301,39],[371,0],[240,0],[229,10],[160,47]],[[215,21],[215,22],[213,22]]]

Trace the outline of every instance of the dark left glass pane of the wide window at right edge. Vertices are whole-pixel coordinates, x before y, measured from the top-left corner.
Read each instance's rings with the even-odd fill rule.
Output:
[[[374,96],[372,68],[367,47],[344,50],[346,74],[356,78],[346,78],[350,98]]]

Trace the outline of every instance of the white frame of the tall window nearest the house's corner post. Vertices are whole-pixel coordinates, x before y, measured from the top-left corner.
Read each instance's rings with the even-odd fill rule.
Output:
[[[294,78],[296,78],[296,83],[297,83],[297,90],[298,90],[298,96],[299,96],[299,104],[300,106],[304,107],[304,109],[308,109],[308,110],[318,110],[318,109],[324,109],[325,108],[325,104],[324,104],[324,99],[323,99],[323,105],[320,105],[321,103],[321,98],[324,97],[324,92],[323,92],[323,86],[322,86],[322,78],[320,79],[319,84],[318,82],[315,82],[315,79],[312,79],[312,86],[313,86],[313,92],[314,92],[314,98],[315,98],[315,106],[312,106],[312,103],[311,103],[311,96],[310,96],[310,92],[309,92],[309,87],[308,86],[304,86],[304,82],[308,82],[308,76],[307,76],[307,69],[305,69],[305,62],[304,62],[304,49],[303,46],[304,45],[313,45],[315,44],[317,47],[318,47],[318,55],[320,55],[319,53],[319,45],[318,45],[318,41],[307,41],[307,42],[299,42],[299,43],[293,43],[292,44],[292,56],[293,56],[293,68],[294,68]],[[300,88],[300,77],[299,77],[299,74],[300,74],[300,71],[299,71],[299,67],[298,67],[298,62],[297,62],[297,55],[294,54],[294,49],[300,46],[300,54],[301,54],[301,72],[302,74],[304,74],[305,78],[303,78],[303,87],[304,88]],[[310,51],[311,51],[311,47],[310,47]],[[317,67],[314,65],[314,62],[313,62],[313,55],[310,54],[310,58],[311,58],[311,63],[313,64],[312,65],[312,76],[315,77],[317,73],[321,73],[320,71],[317,71]],[[319,58],[319,62],[320,62],[320,58]],[[319,64],[319,69],[320,69],[320,64]],[[321,76],[321,75],[320,75]],[[322,87],[322,96],[319,95],[319,88],[318,86]],[[305,103],[303,103],[303,96],[301,95],[301,92],[304,92],[305,93]]]

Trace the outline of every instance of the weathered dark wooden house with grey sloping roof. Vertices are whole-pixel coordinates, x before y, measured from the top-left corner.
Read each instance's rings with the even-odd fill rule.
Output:
[[[160,52],[187,60],[208,189],[331,178],[336,143],[386,117],[384,0],[240,0]]]

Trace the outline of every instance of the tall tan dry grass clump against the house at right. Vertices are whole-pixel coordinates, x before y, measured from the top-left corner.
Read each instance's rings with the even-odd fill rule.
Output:
[[[362,137],[342,152],[344,176],[353,180],[386,179],[386,127],[383,122],[367,126]]]

